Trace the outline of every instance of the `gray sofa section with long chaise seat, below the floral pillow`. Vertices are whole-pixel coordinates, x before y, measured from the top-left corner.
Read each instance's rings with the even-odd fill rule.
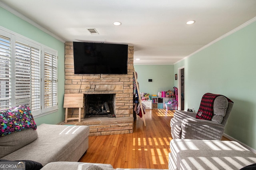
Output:
[[[78,161],[88,149],[88,126],[42,124],[0,137],[0,159],[50,162]]]

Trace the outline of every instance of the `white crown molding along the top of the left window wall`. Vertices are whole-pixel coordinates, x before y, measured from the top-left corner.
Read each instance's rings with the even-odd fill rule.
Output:
[[[50,36],[56,38],[57,40],[59,40],[59,41],[61,41],[61,42],[63,42],[63,43],[66,42],[64,39],[60,38],[59,36],[56,36],[55,34],[53,34],[52,32],[50,32],[50,31],[47,30],[46,28],[40,26],[40,25],[37,24],[36,22],[34,22],[34,21],[30,20],[29,18],[27,18],[27,17],[24,16],[23,14],[21,14],[21,13],[17,12],[16,10],[10,8],[10,6],[8,6],[8,5],[6,5],[6,4],[4,4],[4,3],[2,3],[2,2],[0,2],[0,6],[1,6],[2,8],[4,8],[5,10],[11,12],[12,14],[18,16],[18,17],[21,18],[22,20],[28,22],[29,24],[31,24],[31,25],[35,26],[36,28],[42,30],[43,32],[49,34]]]

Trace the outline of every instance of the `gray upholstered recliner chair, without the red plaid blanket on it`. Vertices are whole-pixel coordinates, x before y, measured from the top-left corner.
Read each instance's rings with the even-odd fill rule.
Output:
[[[196,119],[194,112],[175,111],[170,121],[172,138],[221,140],[232,107],[226,97],[216,97],[211,121]]]

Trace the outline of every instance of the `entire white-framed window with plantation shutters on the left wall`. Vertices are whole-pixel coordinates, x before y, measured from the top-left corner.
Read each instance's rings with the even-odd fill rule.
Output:
[[[0,28],[0,109],[27,105],[34,116],[56,111],[57,56]]]

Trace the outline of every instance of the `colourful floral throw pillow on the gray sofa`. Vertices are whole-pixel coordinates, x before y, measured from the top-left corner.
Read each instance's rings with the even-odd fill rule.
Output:
[[[24,105],[0,110],[0,125],[0,136],[5,136],[27,128],[36,130],[36,123],[31,110]]]

